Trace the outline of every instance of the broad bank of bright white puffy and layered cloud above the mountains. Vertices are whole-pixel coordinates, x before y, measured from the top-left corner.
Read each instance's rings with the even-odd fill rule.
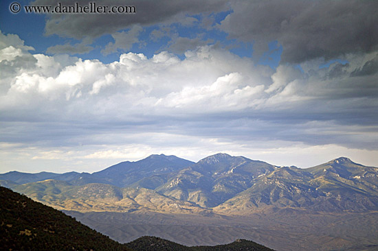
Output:
[[[32,54],[7,37],[0,53],[4,160],[65,156],[62,165],[94,164],[106,154],[129,156],[133,146],[135,156],[157,151],[194,160],[212,151],[264,156],[300,145],[378,150],[376,52],[350,53],[347,64],[323,68],[324,60],[310,60],[302,70],[256,65],[215,45],[183,59],[129,52],[104,64]]]

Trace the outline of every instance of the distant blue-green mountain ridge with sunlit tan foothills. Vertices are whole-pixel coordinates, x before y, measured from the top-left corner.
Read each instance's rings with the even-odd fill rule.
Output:
[[[1,180],[13,176],[13,180]],[[20,176],[14,172],[0,174],[0,183],[62,210],[226,215],[274,207],[326,212],[378,210],[378,168],[346,157],[300,169],[223,153],[197,163],[153,154],[93,174],[70,172],[56,176],[61,182],[16,184],[28,177],[55,177],[46,172]]]

